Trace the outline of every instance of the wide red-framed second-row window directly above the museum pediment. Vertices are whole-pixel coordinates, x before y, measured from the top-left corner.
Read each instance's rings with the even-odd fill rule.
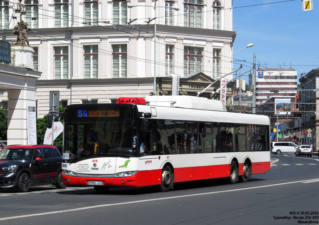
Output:
[[[184,46],[184,76],[202,71],[203,48]]]

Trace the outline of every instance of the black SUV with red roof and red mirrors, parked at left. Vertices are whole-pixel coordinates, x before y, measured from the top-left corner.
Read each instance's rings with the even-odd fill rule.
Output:
[[[0,188],[27,192],[30,186],[63,189],[62,156],[52,145],[8,145],[0,151]]]

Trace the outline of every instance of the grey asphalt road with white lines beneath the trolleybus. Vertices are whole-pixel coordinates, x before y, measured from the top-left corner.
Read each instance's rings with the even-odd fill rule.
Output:
[[[0,190],[0,224],[318,224],[318,156],[271,153],[271,159],[270,171],[247,183],[183,182],[165,193],[153,187],[105,194],[92,187]]]

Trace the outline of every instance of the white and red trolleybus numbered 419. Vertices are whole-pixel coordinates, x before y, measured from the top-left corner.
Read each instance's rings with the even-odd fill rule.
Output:
[[[270,169],[267,116],[227,112],[220,101],[201,97],[145,100],[65,108],[64,184],[168,191],[176,182],[246,182]]]

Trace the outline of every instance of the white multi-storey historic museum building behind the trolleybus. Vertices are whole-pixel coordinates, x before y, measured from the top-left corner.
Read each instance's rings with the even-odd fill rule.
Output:
[[[12,35],[20,17],[15,12],[17,3],[18,0],[0,0],[0,35],[11,43],[17,39]],[[34,67],[42,72],[36,81],[39,118],[48,113],[51,90],[60,91],[63,106],[109,103],[118,97],[149,95],[153,91],[154,70],[158,95],[171,94],[163,89],[169,83],[166,80],[171,79],[169,74],[183,78],[202,72],[205,76],[187,80],[189,85],[180,87],[180,94],[192,94],[201,90],[196,87],[207,86],[231,72],[236,36],[232,0],[21,3],[25,5],[22,19],[32,29],[28,40],[34,49]],[[228,97],[230,93],[228,88]],[[4,107],[7,100],[4,92],[0,106]]]

